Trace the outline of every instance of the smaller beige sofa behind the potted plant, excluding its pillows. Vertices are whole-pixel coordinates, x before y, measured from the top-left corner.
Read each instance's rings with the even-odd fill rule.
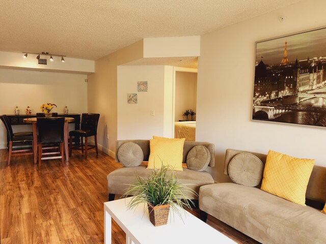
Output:
[[[119,162],[117,157],[119,147],[125,142],[134,142],[143,150],[144,161],[148,161],[150,154],[149,140],[118,140],[116,142],[116,162]],[[195,141],[185,141],[183,145],[183,159],[182,162],[185,165],[186,157],[194,146],[203,145],[208,148],[210,153],[210,161],[208,166],[213,167],[215,162],[215,146],[214,144],[208,142],[195,142]],[[134,184],[137,180],[136,175],[142,177],[147,177],[151,174],[151,169],[146,169],[146,166],[140,165],[137,167],[122,167],[112,171],[107,175],[107,191],[108,191],[108,200],[114,200],[115,194],[122,195],[126,192],[128,184]],[[206,171],[195,171],[187,168],[183,168],[183,171],[175,171],[179,181],[182,184],[191,184],[188,187],[194,190],[197,194],[201,186],[207,184],[213,184],[214,180],[212,176]],[[195,194],[186,194],[190,199],[198,199],[198,196]]]

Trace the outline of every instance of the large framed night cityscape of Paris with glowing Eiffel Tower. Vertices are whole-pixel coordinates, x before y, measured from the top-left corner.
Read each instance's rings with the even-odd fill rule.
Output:
[[[256,42],[252,118],[326,126],[326,28]]]

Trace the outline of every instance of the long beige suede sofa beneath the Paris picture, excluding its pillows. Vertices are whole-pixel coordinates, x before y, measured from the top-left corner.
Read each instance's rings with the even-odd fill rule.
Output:
[[[231,159],[243,152],[227,149],[225,174]],[[266,162],[266,155],[247,153]],[[203,221],[209,214],[262,243],[326,243],[326,215],[319,211],[326,201],[326,168],[314,166],[306,199],[302,206],[259,186],[219,183],[200,188],[199,208]]]

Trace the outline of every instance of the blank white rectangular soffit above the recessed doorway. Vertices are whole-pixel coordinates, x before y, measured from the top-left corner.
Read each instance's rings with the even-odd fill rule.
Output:
[[[200,38],[200,36],[144,38],[144,58],[199,56]]]

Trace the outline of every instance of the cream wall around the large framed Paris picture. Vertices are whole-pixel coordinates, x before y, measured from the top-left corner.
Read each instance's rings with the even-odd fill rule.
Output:
[[[216,147],[216,180],[223,175],[227,148],[267,153],[274,149],[326,166],[326,130],[251,120],[255,41],[326,25],[326,2],[304,1],[206,34],[198,67],[196,139]],[[280,16],[286,21],[280,22]]]

